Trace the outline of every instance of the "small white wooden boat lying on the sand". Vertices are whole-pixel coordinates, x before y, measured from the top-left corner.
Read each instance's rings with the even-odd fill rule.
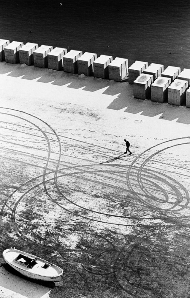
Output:
[[[12,268],[36,280],[59,282],[64,274],[60,267],[15,248],[5,249],[3,257]]]

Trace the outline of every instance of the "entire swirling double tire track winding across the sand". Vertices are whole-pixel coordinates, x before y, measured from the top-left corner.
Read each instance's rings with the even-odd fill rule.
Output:
[[[72,167],[66,167],[66,168],[63,168],[63,169],[59,169],[60,159],[61,159],[61,142],[60,142],[60,140],[59,140],[58,135],[57,135],[56,132],[53,130],[53,128],[51,128],[50,125],[48,125],[48,124],[47,124],[46,122],[44,122],[42,119],[39,119],[38,117],[35,117],[35,116],[33,116],[33,115],[29,114],[29,113],[25,113],[25,112],[17,111],[17,110],[13,110],[13,109],[9,109],[9,110],[12,110],[12,111],[16,111],[16,112],[19,112],[19,113],[22,113],[22,114],[29,115],[30,117],[32,117],[32,118],[34,118],[34,119],[38,119],[40,122],[43,123],[43,125],[45,124],[48,128],[50,128],[51,131],[53,131],[53,133],[51,133],[51,134],[54,134],[54,135],[56,136],[56,141],[58,142],[58,146],[59,146],[59,157],[58,157],[58,162],[57,162],[57,165],[56,165],[56,169],[55,169],[54,171],[47,172],[47,169],[48,169],[47,166],[48,166],[48,162],[49,162],[49,160],[50,160],[50,153],[51,153],[50,140],[49,140],[49,138],[47,137],[47,133],[45,133],[45,132],[39,127],[39,125],[36,125],[34,122],[31,122],[31,121],[29,121],[28,119],[25,119],[25,118],[23,118],[23,117],[19,117],[19,116],[15,116],[15,115],[10,114],[10,116],[18,117],[18,118],[23,119],[23,120],[29,122],[30,124],[34,125],[34,127],[36,127],[36,129],[39,130],[39,131],[44,135],[44,137],[45,137],[45,139],[46,139],[46,141],[47,141],[47,145],[48,145],[48,157],[47,157],[46,167],[45,167],[45,169],[44,169],[43,174],[40,175],[40,176],[37,176],[37,177],[35,177],[35,178],[33,178],[33,179],[29,180],[29,181],[27,181],[27,182],[24,183],[22,186],[18,187],[18,188],[17,188],[17,189],[16,189],[16,190],[9,196],[9,198],[8,198],[8,200],[9,200],[9,199],[12,197],[12,195],[14,195],[14,193],[16,193],[18,190],[21,189],[21,187],[23,187],[23,186],[29,186],[29,184],[30,184],[31,182],[37,181],[39,178],[42,177],[42,182],[35,183],[35,185],[32,185],[32,187],[30,186],[29,189],[28,189],[27,191],[25,191],[25,193],[24,193],[24,194],[23,194],[23,195],[22,195],[22,196],[15,202],[15,205],[14,205],[14,207],[13,207],[13,209],[12,209],[12,222],[13,222],[13,224],[14,224],[15,230],[17,231],[18,235],[20,235],[20,236],[22,236],[23,238],[25,238],[25,240],[30,240],[30,241],[31,241],[31,239],[29,239],[26,235],[24,235],[24,234],[20,231],[20,229],[18,228],[18,226],[17,226],[17,224],[16,224],[16,222],[15,222],[15,212],[16,212],[17,206],[18,206],[19,202],[21,201],[21,199],[22,199],[27,193],[29,193],[29,192],[30,192],[31,190],[33,190],[34,188],[39,187],[39,185],[41,185],[41,184],[43,184],[44,189],[45,189],[45,192],[46,192],[46,194],[48,195],[48,197],[49,197],[55,204],[57,204],[59,207],[61,207],[61,208],[64,209],[65,211],[67,211],[67,212],[69,212],[69,213],[75,215],[74,212],[72,212],[71,210],[69,210],[69,209],[65,208],[64,206],[62,206],[61,204],[59,204],[59,203],[56,201],[56,199],[53,198],[52,195],[50,194],[50,192],[48,191],[48,189],[47,189],[47,182],[48,182],[48,181],[52,181],[52,180],[53,180],[54,183],[55,183],[55,187],[56,187],[56,190],[57,190],[58,194],[61,195],[61,196],[64,198],[64,200],[68,201],[68,202],[71,203],[71,204],[76,205],[77,207],[79,207],[79,208],[81,208],[81,209],[86,209],[87,211],[94,212],[94,214],[95,214],[95,213],[98,213],[98,214],[104,215],[104,216],[106,216],[106,217],[117,217],[117,218],[126,218],[126,219],[136,219],[136,220],[139,220],[139,218],[135,218],[135,217],[127,217],[127,216],[116,215],[116,214],[108,214],[108,213],[105,213],[105,212],[98,212],[98,211],[95,211],[95,210],[90,209],[90,208],[82,207],[82,206],[76,204],[75,202],[73,202],[72,200],[69,200],[68,198],[66,198],[66,196],[64,196],[64,193],[61,192],[60,187],[59,187],[59,185],[58,185],[58,178],[59,178],[59,177],[69,176],[69,175],[72,175],[72,176],[73,176],[73,175],[82,174],[82,173],[92,173],[92,172],[96,173],[97,171],[98,171],[98,172],[106,172],[106,173],[109,173],[109,172],[110,172],[110,173],[113,173],[114,171],[113,171],[113,170],[109,170],[109,171],[108,171],[108,170],[98,170],[98,169],[96,169],[96,170],[82,170],[82,171],[80,170],[80,171],[77,171],[77,172],[74,171],[74,172],[69,173],[69,174],[68,174],[68,173],[65,173],[65,174],[63,174],[63,175],[58,176],[58,173],[60,173],[62,170],[64,170],[64,171],[65,171],[65,170],[71,170],[71,169],[74,170],[74,169],[81,168],[81,167],[83,167],[83,168],[87,168],[87,167],[88,167],[88,168],[89,168],[89,167],[97,166],[97,164],[90,164],[90,165],[88,165],[88,166],[81,166],[81,165],[79,165],[79,166],[72,166]],[[7,113],[2,113],[2,114],[7,114]],[[9,115],[9,114],[8,114],[8,115]],[[180,138],[180,139],[183,139],[183,138]],[[176,140],[177,140],[177,139],[176,139]],[[171,140],[171,141],[173,141],[173,140]],[[170,142],[170,141],[167,141],[167,142]],[[166,143],[166,142],[163,142],[163,143]],[[161,144],[163,144],[163,143],[161,143]],[[185,143],[185,144],[186,144],[186,143]],[[159,144],[159,145],[160,145],[160,144]],[[156,146],[159,146],[159,145],[156,145]],[[156,147],[156,146],[153,146],[153,147],[149,148],[148,150],[151,150],[152,148],[154,148],[154,147]],[[174,145],[173,145],[173,146],[174,146]],[[172,146],[170,146],[170,147],[172,147]],[[170,147],[167,147],[167,148],[170,148]],[[150,185],[153,185],[154,188],[157,188],[157,189],[159,190],[159,192],[162,192],[162,193],[164,194],[164,197],[165,197],[164,200],[163,200],[163,199],[160,199],[160,198],[156,198],[156,197],[154,196],[154,198],[156,199],[156,203],[159,202],[159,204],[164,204],[164,203],[168,202],[168,194],[167,194],[167,191],[165,191],[164,188],[163,188],[162,186],[160,186],[158,183],[155,183],[155,182],[151,181],[151,179],[149,179],[149,178],[150,178],[150,173],[149,173],[147,170],[144,170],[144,167],[145,167],[145,164],[146,164],[146,163],[147,163],[153,156],[155,156],[156,154],[158,154],[159,152],[161,152],[161,151],[163,151],[163,150],[166,150],[167,148],[162,149],[162,150],[159,150],[158,152],[152,154],[150,157],[148,157],[147,159],[145,159],[145,161],[143,162],[143,164],[141,164],[140,166],[135,166],[134,163],[137,161],[137,159],[139,159],[140,157],[142,157],[143,154],[144,154],[145,152],[148,151],[148,150],[145,150],[142,154],[140,154],[139,156],[137,156],[137,158],[132,162],[132,164],[129,166],[129,169],[128,169],[128,172],[127,172],[127,184],[128,184],[128,186],[129,186],[129,190],[132,192],[132,194],[133,194],[135,197],[137,197],[138,199],[140,198],[141,201],[143,201],[145,204],[147,204],[147,205],[149,205],[149,206],[152,206],[152,207],[154,207],[154,205],[151,204],[151,203],[149,203],[147,200],[149,200],[149,199],[151,200],[153,196],[151,195],[150,191],[144,186],[143,181],[146,181],[147,184],[149,183]],[[108,165],[106,165],[106,167],[107,167],[107,166],[108,166]],[[125,168],[124,168],[122,171],[118,171],[118,168],[121,167],[121,165],[117,165],[117,166],[116,166],[116,165],[114,165],[114,166],[113,166],[113,165],[109,165],[109,166],[110,166],[110,167],[117,167],[117,171],[116,171],[117,173],[123,173],[124,169],[126,170],[126,166],[125,166]],[[160,180],[160,181],[166,183],[166,179],[167,179],[167,180],[172,180],[172,182],[175,182],[175,183],[177,184],[177,187],[172,187],[172,183],[167,182],[167,185],[170,186],[170,188],[172,189],[172,191],[175,193],[175,195],[176,195],[176,197],[177,197],[177,200],[176,200],[175,205],[172,206],[172,207],[170,207],[170,208],[168,208],[168,210],[169,210],[169,209],[172,209],[172,208],[174,208],[174,207],[176,207],[176,206],[178,206],[178,204],[180,204],[180,203],[183,201],[181,192],[178,190],[178,188],[183,187],[183,186],[182,186],[181,184],[179,184],[177,181],[175,181],[174,179],[170,178],[169,176],[167,176],[167,175],[165,175],[165,174],[162,174],[162,176],[164,176],[164,178],[165,178],[165,179],[163,179],[163,178],[161,178],[159,175],[156,175],[156,174],[158,174],[157,171],[152,171],[152,172],[153,172],[154,178],[156,178],[157,181]],[[137,174],[136,174],[136,173],[137,173]],[[143,175],[143,173],[145,173],[145,175]],[[47,178],[47,176],[50,176],[51,174],[53,175],[53,177],[51,176],[51,177],[48,177],[48,178]],[[99,174],[96,173],[96,175],[99,175]],[[129,179],[129,178],[130,178],[129,176],[130,176],[130,177],[133,176],[134,178],[137,177],[138,187],[143,191],[144,195],[142,195],[142,194],[138,194],[136,191],[134,191],[134,188],[133,188],[133,186],[132,186],[131,179]],[[134,178],[133,178],[133,180],[134,180]],[[91,179],[87,179],[87,180],[93,182],[93,180],[91,180]],[[100,181],[97,182],[97,183],[101,183],[101,184],[102,184],[102,182],[100,182]],[[107,184],[105,183],[105,185],[107,185]],[[111,186],[111,187],[115,187],[115,186],[112,186],[111,184],[109,184],[109,186]],[[117,187],[116,187],[116,188],[117,188]],[[187,193],[187,191],[186,191],[186,189],[185,189],[184,187],[183,187],[183,191],[186,193],[186,204],[185,204],[184,207],[180,207],[179,210],[185,208],[185,207],[188,205],[188,203],[189,203],[189,197],[188,197],[189,194]],[[143,197],[146,197],[146,199],[142,198],[142,196],[143,196]],[[8,201],[8,200],[7,200],[7,201]],[[170,205],[171,205],[171,204],[172,204],[172,203],[170,202]],[[6,202],[4,203],[4,207],[5,207],[5,205],[6,205]],[[4,207],[2,207],[1,212],[0,212],[1,217],[2,217],[2,212],[3,212],[3,210],[4,210]],[[158,207],[157,207],[157,208],[158,208]],[[160,209],[164,209],[164,208],[160,208]],[[179,211],[179,210],[178,210],[178,211]],[[175,210],[175,211],[176,211],[176,210]],[[97,221],[97,222],[100,222],[100,223],[116,224],[116,223],[113,223],[113,222],[107,222],[107,221],[96,220],[96,219],[94,219],[94,218],[89,218],[89,217],[87,217],[87,216],[83,216],[83,215],[81,215],[81,214],[80,214],[80,215],[77,215],[77,216],[80,216],[81,218],[84,218],[84,219],[86,219],[86,220]],[[2,218],[1,218],[1,219],[2,219]],[[117,224],[117,225],[124,225],[124,226],[141,226],[141,224],[121,224],[121,223],[120,223],[120,224]]]

